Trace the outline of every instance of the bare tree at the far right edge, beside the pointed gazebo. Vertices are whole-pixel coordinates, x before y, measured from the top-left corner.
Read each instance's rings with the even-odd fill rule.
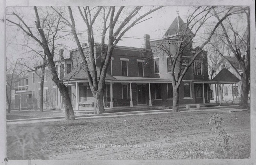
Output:
[[[229,53],[223,54],[217,47],[215,48],[240,75],[242,82],[240,107],[247,108],[250,92],[250,9],[249,7],[237,8],[237,10],[242,10],[243,13],[238,13],[233,18],[228,18],[220,24],[222,29],[222,33],[219,34],[220,40],[226,44]],[[217,11],[214,14],[220,20],[220,14]],[[244,24],[241,22],[244,22]],[[239,72],[235,61],[232,61],[232,56],[238,61],[242,73]]]

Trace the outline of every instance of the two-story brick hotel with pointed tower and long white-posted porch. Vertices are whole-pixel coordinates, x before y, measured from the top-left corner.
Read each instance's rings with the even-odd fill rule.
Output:
[[[179,23],[185,24],[180,17],[175,18],[163,39],[175,40]],[[144,41],[144,48],[124,46],[114,48],[105,80],[105,106],[113,108],[116,106],[172,105],[170,58],[163,52],[155,51],[156,45],[161,40],[150,41],[150,36],[145,34]],[[87,44],[82,44],[82,48],[85,54],[89,53]],[[174,42],[170,44],[170,48],[171,51],[176,51]],[[196,49],[193,49],[191,42],[188,49],[182,52],[182,68],[192,59]],[[94,45],[94,58],[96,60],[92,61],[90,56],[86,58],[89,69],[91,69],[92,62],[95,62],[97,75],[99,75],[100,44]],[[69,88],[74,110],[82,110],[81,106],[91,106],[94,103],[94,97],[78,49],[70,50],[70,56],[67,59],[63,58],[63,50],[60,50],[60,59],[55,61],[55,66],[60,79]],[[175,68],[175,70],[177,69]],[[46,70],[48,69],[46,68]],[[40,72],[40,66],[36,67],[36,71]],[[230,80],[230,82],[238,83],[237,80]],[[28,90],[32,92],[32,97],[37,98],[39,103],[40,77],[36,75],[35,71],[29,72],[28,83]],[[208,79],[207,51],[203,51],[198,55],[183,79],[179,93],[180,104],[208,103],[212,91],[209,84],[218,83],[227,82]],[[44,106],[46,109],[64,109],[60,92],[53,83],[52,74],[49,71],[45,73]]]

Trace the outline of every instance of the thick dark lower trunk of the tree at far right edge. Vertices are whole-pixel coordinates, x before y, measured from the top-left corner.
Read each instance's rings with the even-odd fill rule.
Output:
[[[250,83],[248,76],[246,74],[243,74],[242,77],[242,85],[241,85],[241,101],[240,106],[241,108],[247,108],[248,107],[248,95],[250,92]]]

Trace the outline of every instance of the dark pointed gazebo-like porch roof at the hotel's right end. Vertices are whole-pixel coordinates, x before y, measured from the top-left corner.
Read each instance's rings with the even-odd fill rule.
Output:
[[[235,75],[233,75],[228,69],[223,68],[212,80],[218,82],[225,81],[240,81]]]

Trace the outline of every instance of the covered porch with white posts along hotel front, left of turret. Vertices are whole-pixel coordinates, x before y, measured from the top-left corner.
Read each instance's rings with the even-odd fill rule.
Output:
[[[169,79],[112,76],[104,86],[104,106],[106,111],[118,107],[152,106],[151,83],[171,83]],[[94,98],[87,79],[73,79],[65,82],[71,89],[72,104],[75,111],[94,109]],[[151,85],[150,85],[151,84]]]

